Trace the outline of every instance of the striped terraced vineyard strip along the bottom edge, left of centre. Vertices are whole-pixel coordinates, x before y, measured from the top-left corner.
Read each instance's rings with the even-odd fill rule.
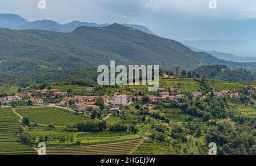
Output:
[[[141,139],[94,146],[49,147],[48,155],[127,155],[141,143]]]

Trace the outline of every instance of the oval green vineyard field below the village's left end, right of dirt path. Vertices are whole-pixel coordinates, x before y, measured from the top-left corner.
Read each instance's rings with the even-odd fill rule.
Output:
[[[15,108],[15,110],[21,116],[28,117],[32,122],[38,124],[71,126],[88,120],[86,117],[65,112],[64,109],[52,107]]]

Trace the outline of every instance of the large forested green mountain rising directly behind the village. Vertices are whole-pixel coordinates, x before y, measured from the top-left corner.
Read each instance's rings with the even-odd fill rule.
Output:
[[[256,63],[218,59],[121,24],[79,27],[72,32],[0,28],[0,83],[96,80],[97,66],[159,65],[163,70],[194,70],[202,65],[226,65],[255,71]],[[7,79],[8,78],[8,79]]]

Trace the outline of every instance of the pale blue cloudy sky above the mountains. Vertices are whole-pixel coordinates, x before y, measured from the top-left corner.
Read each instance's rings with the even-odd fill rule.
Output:
[[[202,49],[256,56],[256,1],[216,0],[0,0],[0,13],[29,21],[51,19],[142,24],[154,33]],[[235,47],[235,48],[234,48]]]

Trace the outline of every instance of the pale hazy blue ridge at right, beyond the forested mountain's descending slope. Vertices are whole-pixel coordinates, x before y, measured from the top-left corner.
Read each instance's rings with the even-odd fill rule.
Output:
[[[208,50],[203,50],[199,48],[195,48],[192,46],[188,46],[188,48],[192,49],[195,52],[205,52],[208,54],[212,54],[214,57],[218,59],[224,59],[226,61],[233,61],[233,62],[256,62],[256,57],[240,57],[236,56],[234,54],[230,53],[221,53],[217,51],[208,51]]]

